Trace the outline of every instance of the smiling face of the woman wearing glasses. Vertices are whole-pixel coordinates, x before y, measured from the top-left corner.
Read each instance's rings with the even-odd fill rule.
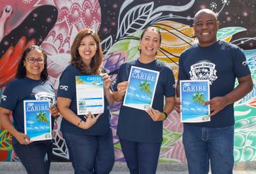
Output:
[[[32,60],[33,58],[36,60],[43,59],[43,62],[34,61],[32,63],[30,60]],[[41,50],[35,49],[35,50],[29,51],[24,60],[24,66],[26,70],[25,76],[35,80],[41,79],[41,72],[45,67],[44,61],[45,60],[43,57],[43,52]]]

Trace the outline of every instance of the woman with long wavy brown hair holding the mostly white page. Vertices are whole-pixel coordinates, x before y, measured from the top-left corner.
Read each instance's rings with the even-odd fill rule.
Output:
[[[113,135],[110,128],[111,79],[101,67],[99,36],[90,29],[78,32],[71,46],[71,65],[62,72],[57,107],[63,119],[60,130],[68,145],[75,174],[110,173],[114,161]],[[75,76],[101,75],[104,88],[104,112],[79,115],[76,108]]]

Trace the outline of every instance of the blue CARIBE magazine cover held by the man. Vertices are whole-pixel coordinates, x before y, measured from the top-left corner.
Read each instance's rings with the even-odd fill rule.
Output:
[[[210,105],[204,105],[209,100],[209,81],[180,81],[181,122],[211,121]]]

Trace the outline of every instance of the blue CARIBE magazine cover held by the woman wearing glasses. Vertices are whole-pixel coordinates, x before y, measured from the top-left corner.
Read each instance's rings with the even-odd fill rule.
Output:
[[[52,139],[48,100],[24,100],[24,130],[31,141]]]

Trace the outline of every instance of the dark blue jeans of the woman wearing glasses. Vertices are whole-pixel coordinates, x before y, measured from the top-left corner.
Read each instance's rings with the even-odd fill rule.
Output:
[[[52,140],[20,144],[13,137],[13,149],[28,174],[48,174],[52,157]]]

